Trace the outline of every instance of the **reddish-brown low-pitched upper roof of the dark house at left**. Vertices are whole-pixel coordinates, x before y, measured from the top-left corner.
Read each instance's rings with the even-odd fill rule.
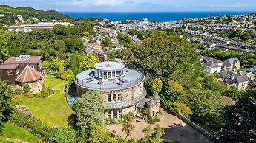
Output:
[[[42,59],[42,56],[31,56],[28,60],[16,61],[16,57],[10,57],[8,60],[5,60],[4,63],[1,63],[1,64],[7,65],[7,64],[20,64],[20,63],[38,63],[39,60],[41,59]]]

